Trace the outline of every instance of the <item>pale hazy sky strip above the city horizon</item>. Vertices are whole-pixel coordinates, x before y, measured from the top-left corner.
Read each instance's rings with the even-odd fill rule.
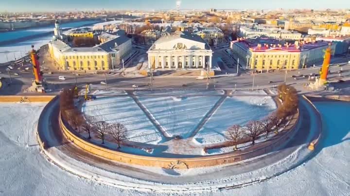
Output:
[[[3,11],[175,9],[177,0],[0,0]],[[181,0],[180,9],[350,9],[350,0]]]

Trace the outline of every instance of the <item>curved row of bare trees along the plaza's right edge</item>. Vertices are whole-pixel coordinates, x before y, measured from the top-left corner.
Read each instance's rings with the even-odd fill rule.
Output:
[[[277,111],[266,116],[262,121],[249,121],[243,127],[234,124],[227,129],[225,136],[228,140],[234,142],[234,150],[237,150],[237,144],[240,140],[244,139],[245,136],[249,137],[250,141],[252,141],[252,145],[254,145],[255,140],[263,133],[265,134],[265,138],[273,131],[278,134],[280,125],[285,118],[293,115],[297,111],[299,102],[297,90],[291,86],[282,84],[278,87],[278,92],[282,103],[279,105]]]

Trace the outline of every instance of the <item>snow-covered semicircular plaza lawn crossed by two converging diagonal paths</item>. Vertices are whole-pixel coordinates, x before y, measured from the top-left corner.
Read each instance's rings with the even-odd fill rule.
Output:
[[[229,94],[225,94],[229,93]],[[82,111],[87,116],[108,123],[120,122],[127,128],[127,138],[147,146],[171,146],[175,136],[188,139],[192,151],[164,152],[204,155],[203,147],[225,142],[225,132],[232,124],[244,125],[250,120],[261,120],[276,109],[273,97],[263,90],[97,90],[96,100],[86,102]],[[130,152],[129,148],[121,151]],[[231,149],[231,151],[233,151]],[[144,154],[143,151],[132,151]],[[151,151],[150,155],[159,155]]]

